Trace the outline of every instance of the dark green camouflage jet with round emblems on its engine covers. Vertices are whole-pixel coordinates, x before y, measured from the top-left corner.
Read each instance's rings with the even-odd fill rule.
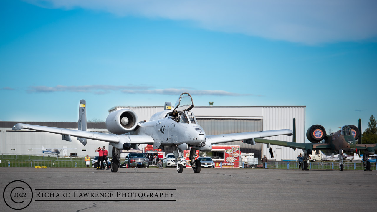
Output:
[[[333,153],[338,154],[340,171],[343,171],[344,169],[343,154],[354,154],[357,151],[364,151],[364,171],[372,171],[371,163],[368,161],[368,155],[373,155],[375,153],[377,144],[362,144],[360,132],[361,119],[359,119],[359,128],[354,125],[345,125],[340,128],[339,131],[331,133],[330,135],[326,134],[323,126],[315,124],[307,130],[307,138],[309,141],[311,141],[311,143],[296,143],[296,120],[293,119],[293,142],[261,138],[256,138],[254,141],[258,143],[292,147],[294,150],[303,149],[305,153],[304,158],[307,162],[306,164],[304,163],[304,169],[306,169],[305,165],[307,166],[309,162],[309,155],[313,153],[313,150],[331,150]],[[255,144],[249,140],[245,140],[244,143]]]

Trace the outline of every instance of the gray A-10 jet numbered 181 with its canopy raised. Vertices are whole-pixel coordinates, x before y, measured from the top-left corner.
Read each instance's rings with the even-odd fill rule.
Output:
[[[71,136],[77,137],[84,146],[87,139],[109,142],[113,146],[111,171],[117,172],[120,166],[120,150],[137,149],[138,144],[153,144],[153,149],[164,149],[172,146],[178,173],[182,173],[180,163],[184,150],[190,150],[190,164],[194,172],[201,171],[199,160],[194,160],[196,150],[211,151],[212,144],[231,141],[250,140],[276,135],[292,135],[290,129],[243,132],[224,135],[205,135],[203,128],[198,124],[195,115],[190,111],[193,100],[189,93],[183,93],[171,109],[171,103],[165,103],[165,110],[152,115],[148,122],[138,122],[135,112],[130,109],[121,109],[111,112],[106,118],[106,128],[112,134],[86,131],[86,105],[80,100],[78,130],[53,128],[31,124],[16,124],[12,129],[30,129],[63,135],[63,140],[72,141]]]

